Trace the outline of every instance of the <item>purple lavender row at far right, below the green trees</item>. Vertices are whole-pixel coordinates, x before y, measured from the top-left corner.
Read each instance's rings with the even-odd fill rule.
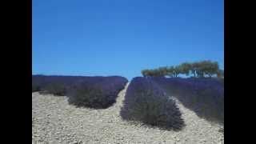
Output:
[[[224,122],[224,80],[218,78],[151,78],[184,106],[203,118]]]

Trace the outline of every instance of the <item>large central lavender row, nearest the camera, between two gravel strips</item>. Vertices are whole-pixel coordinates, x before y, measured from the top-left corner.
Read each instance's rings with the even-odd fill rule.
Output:
[[[144,122],[167,130],[180,130],[184,126],[176,103],[150,78],[132,79],[120,114],[130,122]]]

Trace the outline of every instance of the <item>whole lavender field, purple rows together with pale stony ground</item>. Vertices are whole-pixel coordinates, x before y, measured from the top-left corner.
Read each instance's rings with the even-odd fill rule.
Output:
[[[223,143],[224,79],[32,77],[34,143]]]

